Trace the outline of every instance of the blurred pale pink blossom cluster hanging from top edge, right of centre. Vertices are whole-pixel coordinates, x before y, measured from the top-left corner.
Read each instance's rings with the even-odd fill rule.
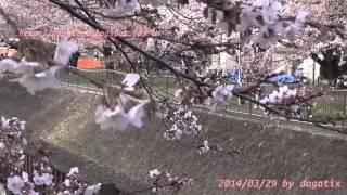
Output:
[[[280,16],[282,3],[279,0],[255,0],[253,3],[244,3],[236,0],[204,1],[205,15],[210,23],[216,22],[217,26],[224,29],[245,34],[250,31],[244,43],[257,44],[264,49],[274,46],[279,38],[286,38],[291,41],[304,26],[308,13],[299,9],[295,21],[287,24],[287,21]],[[218,4],[218,5],[217,5]],[[236,15],[228,15],[234,12]],[[230,29],[230,26],[233,29]]]

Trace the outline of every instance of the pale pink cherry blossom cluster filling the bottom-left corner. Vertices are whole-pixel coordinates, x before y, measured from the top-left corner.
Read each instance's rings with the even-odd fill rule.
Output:
[[[33,158],[33,172],[24,170],[25,154],[24,148],[27,145],[23,136],[25,131],[25,121],[20,121],[13,117],[7,119],[1,117],[0,121],[0,159],[2,168],[12,170],[7,178],[7,190],[15,195],[39,195],[39,192],[49,194],[67,195],[93,195],[98,194],[101,184],[89,185],[80,182],[78,168],[74,167],[67,174],[62,184],[53,182],[52,165],[44,155],[37,155]],[[18,176],[20,173],[20,176]],[[69,184],[67,184],[69,183]]]

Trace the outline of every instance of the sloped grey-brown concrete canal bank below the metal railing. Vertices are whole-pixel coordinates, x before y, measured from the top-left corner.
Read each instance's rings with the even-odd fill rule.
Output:
[[[346,135],[293,125],[264,127],[260,120],[245,116],[197,112],[204,127],[202,138],[218,141],[226,150],[241,148],[237,156],[200,156],[182,146],[192,145],[189,140],[165,141],[164,127],[156,119],[147,118],[141,130],[101,131],[93,122],[99,98],[67,89],[29,95],[17,84],[0,80],[0,115],[26,120],[35,130],[33,135],[53,148],[56,166],[66,170],[78,164],[82,172],[88,172],[87,179],[115,182],[124,192],[145,187],[149,170],[157,168],[194,180],[192,187],[179,194],[347,194]],[[232,181],[240,179],[244,187],[236,183],[232,186]],[[305,179],[323,182],[316,188],[305,182],[304,187]],[[294,186],[283,187],[284,180],[294,182]],[[324,180],[339,181],[340,186],[336,182],[324,185]]]

